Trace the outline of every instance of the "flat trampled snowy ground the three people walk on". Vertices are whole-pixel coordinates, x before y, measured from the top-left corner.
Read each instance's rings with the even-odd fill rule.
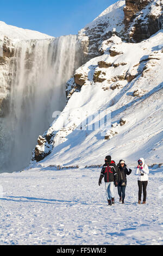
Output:
[[[163,168],[150,169],[147,204],[128,176],[126,204],[108,206],[101,169],[2,173],[1,245],[162,245]],[[3,188],[3,192],[2,192]],[[162,191],[161,191],[162,190]]]

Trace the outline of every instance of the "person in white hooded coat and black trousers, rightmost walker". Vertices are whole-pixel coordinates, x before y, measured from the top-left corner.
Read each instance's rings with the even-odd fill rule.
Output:
[[[141,194],[142,194],[142,188],[143,188],[143,204],[146,204],[146,198],[147,198],[147,185],[148,185],[148,174],[149,169],[147,164],[145,164],[145,160],[143,158],[140,158],[138,161],[138,166],[136,168],[136,174],[138,176],[138,186],[139,186],[139,201],[138,203],[141,204]]]

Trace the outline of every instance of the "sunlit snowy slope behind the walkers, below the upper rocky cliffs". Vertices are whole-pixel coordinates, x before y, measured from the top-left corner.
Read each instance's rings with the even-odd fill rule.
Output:
[[[80,90],[44,134],[54,138],[54,149],[42,166],[102,164],[108,154],[117,162],[134,164],[141,156],[148,164],[162,162],[162,45],[163,31],[139,44],[116,35],[103,42],[104,54],[76,70],[70,81],[70,94],[75,82]],[[110,129],[95,128],[106,111],[111,112]]]

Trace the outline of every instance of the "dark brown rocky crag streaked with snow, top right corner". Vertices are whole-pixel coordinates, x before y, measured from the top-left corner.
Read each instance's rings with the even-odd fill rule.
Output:
[[[125,29],[122,36],[130,42],[140,42],[158,32],[163,25],[161,0],[126,0]]]

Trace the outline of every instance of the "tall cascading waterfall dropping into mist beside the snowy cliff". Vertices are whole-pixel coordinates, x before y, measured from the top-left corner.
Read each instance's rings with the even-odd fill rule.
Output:
[[[80,65],[76,53],[76,35],[16,43],[10,114],[3,120],[3,170],[29,164],[37,137],[53,121],[52,113],[65,107],[65,84]]]

